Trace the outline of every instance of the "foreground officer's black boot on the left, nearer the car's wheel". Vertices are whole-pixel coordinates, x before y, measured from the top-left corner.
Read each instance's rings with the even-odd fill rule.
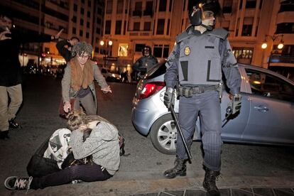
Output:
[[[165,178],[175,178],[177,175],[185,176],[187,175],[187,166],[185,163],[185,160],[178,158],[178,156],[175,158],[175,167],[171,168],[169,170],[166,170],[163,174]]]

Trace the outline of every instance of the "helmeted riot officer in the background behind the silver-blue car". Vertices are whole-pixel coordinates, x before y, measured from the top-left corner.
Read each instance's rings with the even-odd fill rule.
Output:
[[[138,77],[141,77],[146,72],[148,72],[156,63],[158,63],[158,60],[156,57],[152,55],[151,47],[146,45],[142,50],[142,57],[136,60],[136,62],[133,65],[133,70],[138,72]]]

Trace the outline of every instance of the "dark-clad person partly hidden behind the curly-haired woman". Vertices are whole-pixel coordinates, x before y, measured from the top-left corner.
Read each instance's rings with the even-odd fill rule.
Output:
[[[58,41],[58,43],[56,43],[56,48],[58,49],[58,53],[62,55],[62,57],[66,60],[66,62],[69,62],[72,59],[72,54],[71,54],[72,46],[74,46],[79,41],[80,41],[79,38],[72,37],[69,40],[60,40]]]

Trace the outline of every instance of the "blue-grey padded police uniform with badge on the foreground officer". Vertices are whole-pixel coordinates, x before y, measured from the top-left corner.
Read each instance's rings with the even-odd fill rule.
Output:
[[[219,171],[221,166],[221,111],[219,84],[222,73],[232,94],[239,94],[241,76],[227,40],[227,31],[218,28],[201,34],[194,26],[177,37],[177,44],[166,62],[167,89],[178,82],[179,121],[190,148],[197,116],[200,116],[203,165]],[[187,159],[181,137],[177,138],[177,156]]]

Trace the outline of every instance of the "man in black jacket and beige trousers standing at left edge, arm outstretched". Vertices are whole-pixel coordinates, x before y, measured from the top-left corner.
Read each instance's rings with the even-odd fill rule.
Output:
[[[49,42],[58,38],[61,32],[56,36],[17,33],[11,29],[12,17],[4,11],[0,13],[0,28],[5,32],[1,33],[0,40],[0,139],[8,139],[9,129],[21,128],[15,121],[16,112],[23,102],[22,72],[18,60],[20,45],[28,42]]]

